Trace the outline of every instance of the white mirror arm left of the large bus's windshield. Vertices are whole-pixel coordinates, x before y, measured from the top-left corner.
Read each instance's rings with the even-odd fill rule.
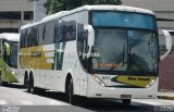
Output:
[[[91,25],[85,25],[84,29],[88,30],[88,54],[90,55],[91,53],[91,48],[95,45],[95,30]]]

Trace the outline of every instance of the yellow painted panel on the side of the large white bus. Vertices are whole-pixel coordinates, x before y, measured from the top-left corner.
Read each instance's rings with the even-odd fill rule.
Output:
[[[36,70],[52,70],[53,62],[48,62],[53,57],[46,57],[46,53],[53,51],[44,51],[44,46],[21,49],[21,67]]]

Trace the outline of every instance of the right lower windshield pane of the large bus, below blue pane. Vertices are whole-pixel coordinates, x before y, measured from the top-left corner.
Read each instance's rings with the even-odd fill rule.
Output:
[[[157,72],[157,35],[153,33],[128,30],[129,71]]]

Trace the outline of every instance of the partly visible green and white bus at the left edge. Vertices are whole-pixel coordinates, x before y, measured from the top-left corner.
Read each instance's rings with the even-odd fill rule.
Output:
[[[18,34],[0,34],[0,82],[2,85],[17,83],[18,40]]]

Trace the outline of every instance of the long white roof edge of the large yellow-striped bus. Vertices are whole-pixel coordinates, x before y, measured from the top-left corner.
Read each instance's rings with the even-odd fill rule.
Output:
[[[21,29],[41,24],[44,22],[48,22],[58,17],[66,16],[69,14],[79,12],[79,11],[91,11],[91,10],[109,10],[109,11],[127,11],[127,12],[138,12],[138,13],[146,13],[146,14],[152,14],[154,13],[150,10],[146,9],[140,9],[140,8],[135,8],[135,7],[126,7],[126,5],[84,5],[79,7],[77,9],[71,10],[71,11],[61,11],[55,14],[49,15],[44,17],[41,21],[33,23],[33,24],[27,24],[21,27]]]

